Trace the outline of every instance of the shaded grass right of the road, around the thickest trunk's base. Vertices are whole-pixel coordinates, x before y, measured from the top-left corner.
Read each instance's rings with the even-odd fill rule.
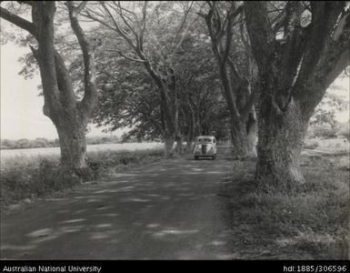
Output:
[[[348,258],[349,158],[303,159],[307,183],[288,193],[257,191],[255,162],[235,161],[225,192],[236,258]]]

